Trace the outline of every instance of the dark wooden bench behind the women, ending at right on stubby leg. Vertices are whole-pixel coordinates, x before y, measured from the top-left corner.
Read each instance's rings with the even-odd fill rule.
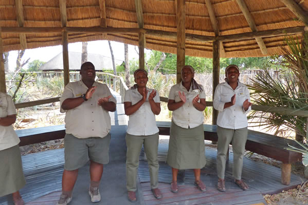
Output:
[[[157,121],[156,125],[160,135],[170,134],[171,122]],[[216,128],[215,125],[203,125],[204,139],[218,141]],[[288,144],[299,147],[292,139],[248,130],[246,150],[282,161],[281,183],[283,185],[289,185],[291,181],[291,164],[296,161],[301,161],[302,154],[284,149],[288,147]]]

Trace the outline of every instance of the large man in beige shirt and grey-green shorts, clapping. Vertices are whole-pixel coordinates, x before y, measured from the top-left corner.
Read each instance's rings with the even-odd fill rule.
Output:
[[[65,165],[62,194],[58,205],[71,201],[78,169],[90,160],[89,195],[92,202],[100,201],[98,190],[103,164],[109,162],[111,120],[108,111],[116,110],[116,99],[105,84],[95,82],[95,67],[81,65],[81,80],[65,86],[60,97],[61,112],[66,112],[64,138]]]

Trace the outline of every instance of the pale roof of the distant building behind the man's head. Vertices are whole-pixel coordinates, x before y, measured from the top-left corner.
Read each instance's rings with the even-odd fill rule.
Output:
[[[69,70],[80,70],[81,53],[68,52]],[[88,61],[93,63],[95,70],[113,70],[111,57],[106,57],[99,54],[88,53]],[[123,60],[115,59],[116,66],[121,65]],[[50,59],[39,68],[42,71],[63,70],[63,54],[62,52]]]

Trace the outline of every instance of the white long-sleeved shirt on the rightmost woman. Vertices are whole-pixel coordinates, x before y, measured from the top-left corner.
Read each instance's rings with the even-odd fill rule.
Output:
[[[229,108],[224,109],[225,103],[231,101],[231,97],[235,94],[235,104]],[[215,89],[213,107],[219,111],[217,118],[217,125],[227,129],[241,129],[248,126],[246,113],[243,108],[244,101],[248,99],[250,102],[250,95],[248,88],[238,82],[238,87],[233,90],[230,85],[225,82],[219,84]]]

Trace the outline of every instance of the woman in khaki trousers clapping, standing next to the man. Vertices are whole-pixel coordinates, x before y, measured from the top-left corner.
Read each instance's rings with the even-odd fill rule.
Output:
[[[162,197],[158,189],[158,128],[155,115],[160,113],[159,94],[154,89],[146,87],[148,73],[144,69],[134,72],[136,84],[124,96],[125,114],[130,116],[126,131],[126,188],[128,199],[132,202],[136,198],[136,177],[139,166],[139,155],[142,148],[146,152],[149,164],[151,189],[155,198]]]

